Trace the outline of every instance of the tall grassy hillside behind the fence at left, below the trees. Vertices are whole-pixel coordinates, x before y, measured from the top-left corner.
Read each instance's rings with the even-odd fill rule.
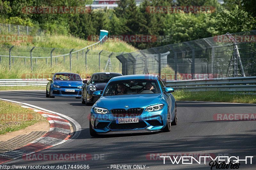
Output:
[[[2,57],[2,62],[0,64],[0,79],[5,78],[39,78],[37,75],[47,75],[51,77],[51,73],[55,72],[70,72],[69,67],[69,55],[64,57],[57,57],[57,63],[55,63],[55,58],[52,59],[52,67],[50,58],[47,59],[43,57],[50,57],[51,49],[56,48],[52,55],[62,55],[68,54],[71,48],[75,50],[84,48],[95,42],[85,41],[79,38],[71,36],[51,36],[45,39],[44,42],[29,42],[20,44],[0,44],[0,55],[9,55],[9,48],[12,48],[12,55],[14,56],[30,56],[30,49],[33,46],[42,47],[35,48],[33,50],[33,57],[42,57],[38,59],[33,59],[33,71],[30,67],[30,58],[14,58],[14,63],[11,62],[11,70],[9,70],[9,57]],[[50,48],[51,47],[51,48]],[[100,69],[99,69],[99,52],[104,50],[100,55]],[[85,78],[87,75],[91,75],[94,72],[99,71],[113,71],[121,72],[119,68],[119,61],[116,55],[121,54],[120,52],[132,52],[137,51],[136,48],[127,44],[126,42],[105,42],[101,46],[93,46],[87,53],[87,70],[85,68],[85,52],[84,55],[82,51],[72,54],[72,70],[71,72],[78,73]],[[109,66],[105,70],[105,66],[108,61],[108,56],[111,55],[112,69]],[[11,59],[12,60],[12,59]],[[25,64],[26,61],[26,64]],[[29,76],[32,75],[32,76]],[[48,78],[45,77],[44,78]]]

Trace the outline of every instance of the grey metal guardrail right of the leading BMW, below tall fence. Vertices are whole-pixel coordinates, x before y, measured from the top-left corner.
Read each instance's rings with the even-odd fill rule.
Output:
[[[256,91],[256,76],[166,81],[166,86],[184,91]]]

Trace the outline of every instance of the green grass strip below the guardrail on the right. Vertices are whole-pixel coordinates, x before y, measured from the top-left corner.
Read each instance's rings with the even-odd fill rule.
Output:
[[[173,93],[176,100],[213,101],[227,103],[256,103],[256,96],[242,92],[184,92],[177,90]]]

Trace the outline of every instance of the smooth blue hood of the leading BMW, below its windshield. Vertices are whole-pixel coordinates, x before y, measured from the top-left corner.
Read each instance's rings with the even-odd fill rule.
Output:
[[[98,107],[107,108],[109,110],[115,108],[137,108],[146,107],[157,104],[162,98],[161,93],[156,94],[127,94],[116,96],[102,96],[97,101]],[[125,108],[124,106],[129,106]]]

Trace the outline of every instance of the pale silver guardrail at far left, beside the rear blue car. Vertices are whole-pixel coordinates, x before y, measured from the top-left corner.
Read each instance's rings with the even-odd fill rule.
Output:
[[[47,79],[0,79],[0,86],[43,86]]]

